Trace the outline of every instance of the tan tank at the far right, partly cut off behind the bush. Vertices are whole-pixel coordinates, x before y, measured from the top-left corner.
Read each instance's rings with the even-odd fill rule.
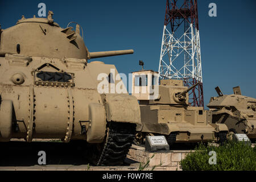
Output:
[[[215,88],[218,97],[210,98],[207,105],[212,110],[213,123],[224,123],[228,126],[229,135],[246,134],[253,142],[256,139],[256,99],[241,95],[240,86],[234,87],[234,94],[222,94]]]

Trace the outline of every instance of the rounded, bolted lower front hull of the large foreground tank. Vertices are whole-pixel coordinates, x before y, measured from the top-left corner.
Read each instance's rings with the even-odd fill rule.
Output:
[[[13,85],[0,85],[0,90],[2,100],[13,102],[16,131],[12,131],[12,138],[26,139],[32,122],[32,138],[64,139],[69,132],[68,123],[72,122],[71,139],[86,140],[86,135],[81,135],[81,125],[88,128],[88,106],[102,104],[97,90]]]

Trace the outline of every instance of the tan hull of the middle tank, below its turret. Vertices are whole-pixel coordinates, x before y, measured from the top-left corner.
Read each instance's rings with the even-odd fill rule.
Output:
[[[142,126],[138,131],[155,135],[175,133],[176,143],[208,142],[216,139],[212,112],[202,107],[141,105]]]

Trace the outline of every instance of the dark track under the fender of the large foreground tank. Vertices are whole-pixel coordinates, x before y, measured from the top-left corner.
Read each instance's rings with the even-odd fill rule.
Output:
[[[97,166],[122,165],[133,143],[136,133],[134,123],[109,123],[106,142],[97,162]]]

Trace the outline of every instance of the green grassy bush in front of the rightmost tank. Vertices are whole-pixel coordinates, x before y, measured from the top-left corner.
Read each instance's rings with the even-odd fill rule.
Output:
[[[209,164],[210,151],[216,152],[217,164]],[[196,151],[181,160],[184,171],[255,171],[256,148],[243,142],[229,141],[221,146],[200,143]]]

